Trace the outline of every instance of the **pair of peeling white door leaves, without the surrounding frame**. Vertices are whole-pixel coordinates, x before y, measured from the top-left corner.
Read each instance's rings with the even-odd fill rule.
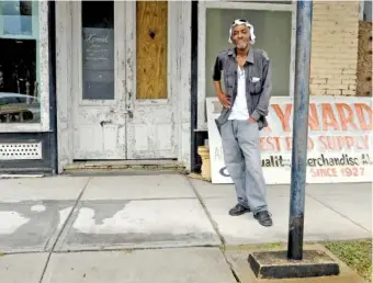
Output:
[[[168,2],[77,1],[71,13],[72,159],[177,158]]]

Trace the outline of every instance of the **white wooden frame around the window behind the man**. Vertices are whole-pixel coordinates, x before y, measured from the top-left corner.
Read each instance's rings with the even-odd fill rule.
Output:
[[[265,1],[267,2],[267,1]],[[197,125],[195,132],[207,131],[206,117],[206,83],[212,83],[211,78],[205,77],[206,71],[206,11],[207,9],[241,9],[259,11],[289,11],[292,13],[291,32],[291,61],[290,61],[290,95],[294,95],[295,79],[295,48],[296,48],[296,1],[292,3],[259,3],[230,1],[199,1],[199,55],[197,55]]]

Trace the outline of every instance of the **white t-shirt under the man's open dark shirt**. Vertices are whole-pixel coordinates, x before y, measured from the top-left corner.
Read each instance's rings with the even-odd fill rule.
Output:
[[[237,70],[237,97],[228,120],[248,120],[249,111],[246,100],[246,75],[245,69]]]

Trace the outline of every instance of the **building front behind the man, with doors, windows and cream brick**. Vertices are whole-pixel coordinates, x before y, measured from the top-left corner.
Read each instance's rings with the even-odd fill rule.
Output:
[[[359,13],[315,1],[313,95],[355,94]],[[2,1],[0,15],[0,171],[197,168],[211,68],[237,18],[272,60],[272,95],[293,97],[296,1]]]

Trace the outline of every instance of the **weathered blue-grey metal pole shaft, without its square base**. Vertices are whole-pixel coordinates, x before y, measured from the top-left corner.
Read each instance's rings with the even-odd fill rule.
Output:
[[[292,181],[287,258],[303,259],[313,1],[297,1]]]

